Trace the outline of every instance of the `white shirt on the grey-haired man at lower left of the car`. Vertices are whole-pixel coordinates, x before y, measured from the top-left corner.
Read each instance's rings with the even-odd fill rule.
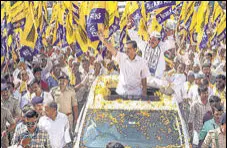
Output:
[[[57,112],[57,117],[53,121],[47,116],[39,119],[38,126],[46,130],[50,136],[50,144],[53,148],[63,148],[71,142],[69,134],[69,120],[63,113]]]

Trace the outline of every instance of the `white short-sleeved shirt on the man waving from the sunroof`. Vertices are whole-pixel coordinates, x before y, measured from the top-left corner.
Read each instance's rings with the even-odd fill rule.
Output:
[[[116,92],[119,95],[142,95],[141,80],[150,75],[147,62],[139,56],[136,56],[134,60],[130,60],[122,52],[117,53],[115,60],[120,68]]]

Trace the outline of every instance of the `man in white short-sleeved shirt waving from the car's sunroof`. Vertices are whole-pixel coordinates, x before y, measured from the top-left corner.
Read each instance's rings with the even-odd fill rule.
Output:
[[[136,54],[137,43],[126,43],[126,54],[117,51],[111,43],[105,41],[101,32],[99,39],[115,57],[119,64],[120,76],[116,92],[119,95],[147,95],[147,77],[150,75],[147,62]]]

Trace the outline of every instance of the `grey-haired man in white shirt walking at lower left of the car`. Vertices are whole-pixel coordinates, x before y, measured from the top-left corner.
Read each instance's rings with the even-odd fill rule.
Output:
[[[56,102],[45,105],[46,115],[39,119],[38,126],[46,130],[53,148],[63,148],[71,142],[69,133],[69,121],[65,114],[57,111]]]

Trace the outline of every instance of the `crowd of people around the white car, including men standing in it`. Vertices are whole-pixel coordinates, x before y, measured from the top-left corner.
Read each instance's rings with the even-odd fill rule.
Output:
[[[100,32],[100,41],[107,47],[105,56],[103,50],[95,55],[94,49],[89,49],[76,57],[73,45],[64,49],[50,45],[32,60],[8,62],[1,70],[1,147],[73,147],[74,129],[92,83],[99,75],[122,73],[130,88],[121,91],[121,84],[122,89],[117,90],[121,95],[131,89],[146,96],[146,83],[142,81],[139,90],[136,78],[168,81],[172,92],[165,88],[162,93],[171,94],[178,103],[193,147],[226,147],[226,41],[198,50],[197,44],[180,40],[176,21],[168,20],[165,38],[154,31],[146,42],[132,24],[128,20],[132,40],[125,50],[128,58]],[[143,63],[127,73],[130,62],[141,59]],[[138,69],[142,74],[134,79]],[[107,147],[114,144],[123,147],[118,143]]]

